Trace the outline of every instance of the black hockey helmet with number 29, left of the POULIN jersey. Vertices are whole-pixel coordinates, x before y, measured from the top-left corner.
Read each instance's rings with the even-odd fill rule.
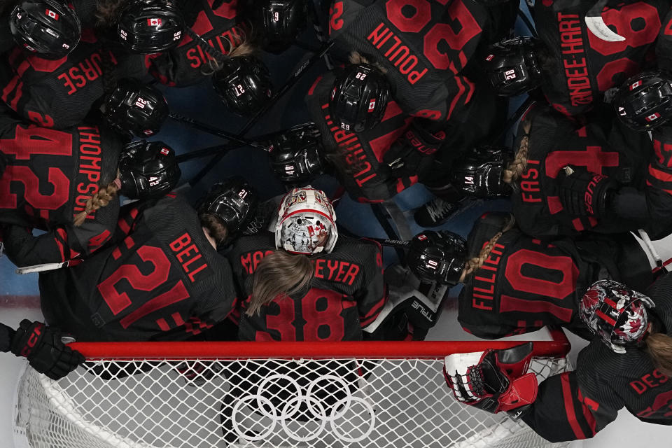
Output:
[[[362,132],[377,125],[385,114],[390,83],[371,64],[351,64],[334,81],[329,111],[341,129]]]

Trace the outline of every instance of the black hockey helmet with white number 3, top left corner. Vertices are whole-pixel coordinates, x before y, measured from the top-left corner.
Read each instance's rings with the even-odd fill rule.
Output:
[[[12,11],[9,27],[25,50],[60,59],[79,43],[82,27],[75,11],[59,0],[24,0]]]

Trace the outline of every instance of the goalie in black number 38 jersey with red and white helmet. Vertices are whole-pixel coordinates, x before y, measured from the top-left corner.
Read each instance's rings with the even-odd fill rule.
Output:
[[[381,248],[338,235],[321,190],[283,197],[274,234],[235,241],[244,341],[353,341],[387,300]]]

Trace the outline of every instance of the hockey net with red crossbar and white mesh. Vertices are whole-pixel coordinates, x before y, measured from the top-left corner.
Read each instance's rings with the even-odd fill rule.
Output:
[[[569,344],[535,342],[531,371],[567,369]],[[52,381],[31,368],[17,448],[554,447],[524,423],[454,400],[444,356],[520,342],[78,344]]]

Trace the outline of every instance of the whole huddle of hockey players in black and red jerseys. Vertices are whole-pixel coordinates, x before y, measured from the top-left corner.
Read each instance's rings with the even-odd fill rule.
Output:
[[[515,1],[321,3],[0,6],[0,237],[15,265],[40,272],[53,325],[3,326],[0,347],[58,378],[83,362],[60,330],[81,341],[423,339],[431,323],[388,295],[381,246],[346,235],[335,198],[310,186],[330,174],[377,203],[422,183],[435,195],[414,214],[422,228],[510,197],[511,213],[484,214],[466,239],[421,232],[402,260],[420,281],[463,283],[466,331],[560,325],[591,339],[575,371],[541,384],[526,374],[528,345],[448,356],[458,400],[551,441],[592,437],[624,406],[672,424],[672,275],[649,239],[672,233],[668,0],[537,2],[539,37],[514,37]],[[262,50],[287,50],[321,13],[333,47],[305,92],[314,123],[260,143],[288,193],[262,202],[240,178],[196,202],[174,190],[179,156],[143,139],[170,115],[152,84],[209,82],[230,111],[260,116],[276,97]]]

